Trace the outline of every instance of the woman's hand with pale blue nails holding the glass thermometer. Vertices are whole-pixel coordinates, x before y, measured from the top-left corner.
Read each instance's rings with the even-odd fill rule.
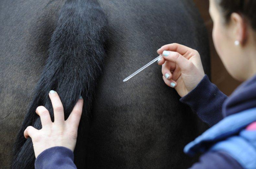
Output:
[[[172,43],[157,50],[163,57],[158,61],[162,65],[163,80],[174,87],[183,97],[188,94],[204,77],[204,69],[198,51]]]

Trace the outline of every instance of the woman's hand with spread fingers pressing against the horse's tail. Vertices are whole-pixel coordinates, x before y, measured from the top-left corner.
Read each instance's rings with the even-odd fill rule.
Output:
[[[32,139],[36,158],[41,152],[51,147],[63,146],[74,151],[76,146],[77,129],[82,115],[83,99],[78,99],[68,119],[64,120],[63,105],[58,94],[54,92],[52,90],[49,93],[53,107],[54,122],[50,118],[49,111],[45,107],[39,106],[36,109],[36,113],[40,116],[42,129],[37,130],[29,126],[24,131],[25,138],[31,137]]]

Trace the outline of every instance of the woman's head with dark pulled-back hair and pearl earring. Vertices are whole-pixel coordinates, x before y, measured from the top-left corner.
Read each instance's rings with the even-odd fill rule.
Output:
[[[227,71],[244,81],[256,73],[255,0],[210,0],[213,40]]]

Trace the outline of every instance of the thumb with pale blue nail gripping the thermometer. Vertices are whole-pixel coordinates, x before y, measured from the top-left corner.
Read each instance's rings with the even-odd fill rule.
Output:
[[[178,52],[173,51],[163,51],[163,58],[167,61],[176,63],[182,72],[184,71],[191,71],[194,67],[194,64],[182,56]]]

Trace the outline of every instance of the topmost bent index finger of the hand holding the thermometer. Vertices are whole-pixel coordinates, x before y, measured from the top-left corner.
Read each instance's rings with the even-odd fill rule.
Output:
[[[192,48],[189,48],[187,46],[184,46],[178,43],[171,43],[171,44],[164,45],[157,50],[157,53],[162,54],[163,51],[175,51],[180,53],[181,55],[184,55],[187,52],[191,52],[191,53],[195,52],[195,50],[193,50]]]

